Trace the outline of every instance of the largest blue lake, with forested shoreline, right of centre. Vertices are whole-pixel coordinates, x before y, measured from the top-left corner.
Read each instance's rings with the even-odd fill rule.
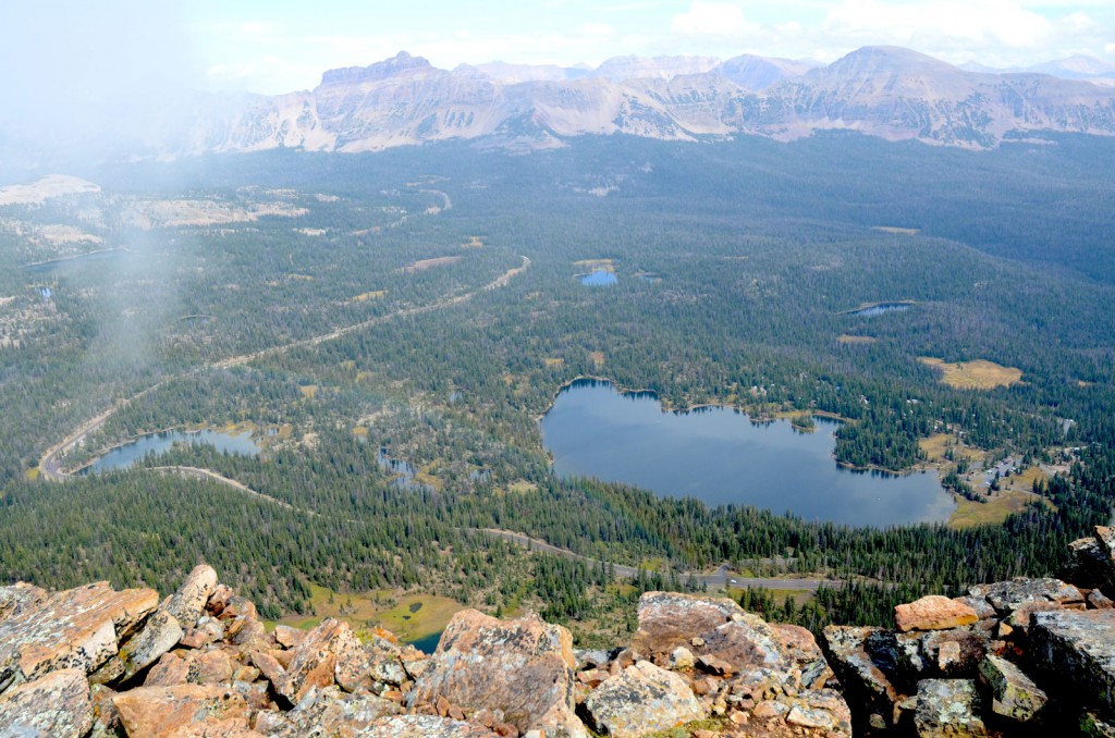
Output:
[[[934,473],[853,472],[833,459],[840,423],[816,418],[803,434],[788,421],[756,425],[729,408],[662,412],[653,394],[621,394],[580,380],[542,419],[543,444],[562,476],[586,476],[754,505],[807,521],[888,526],[943,522],[956,508]]]

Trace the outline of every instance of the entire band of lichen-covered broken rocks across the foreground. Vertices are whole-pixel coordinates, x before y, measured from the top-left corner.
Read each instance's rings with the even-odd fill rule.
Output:
[[[331,619],[268,633],[206,565],[164,600],[20,583],[0,588],[0,735],[1115,735],[1115,532],[1073,550],[1078,585],[930,596],[900,605],[896,630],[832,627],[823,648],[666,592],[640,599],[626,648],[574,651],[536,615],[466,610],[427,657]]]

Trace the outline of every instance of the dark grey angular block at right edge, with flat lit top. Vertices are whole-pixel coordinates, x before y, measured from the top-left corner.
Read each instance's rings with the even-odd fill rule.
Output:
[[[1030,658],[1070,684],[1069,697],[1115,709],[1115,610],[1034,613]]]

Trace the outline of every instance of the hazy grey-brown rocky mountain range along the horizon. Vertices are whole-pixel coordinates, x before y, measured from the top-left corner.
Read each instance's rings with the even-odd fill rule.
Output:
[[[617,57],[595,69],[493,62],[446,70],[404,51],[326,71],[312,90],[175,98],[154,123],[124,122],[128,142],[118,152],[367,152],[445,139],[533,150],[582,135],[793,140],[827,129],[992,148],[1037,132],[1115,135],[1115,67],[1075,58],[1040,68],[966,69],[865,47],[827,66]]]

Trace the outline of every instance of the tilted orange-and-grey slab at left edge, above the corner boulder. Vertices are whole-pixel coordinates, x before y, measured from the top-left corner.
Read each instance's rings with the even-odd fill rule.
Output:
[[[90,673],[158,606],[155,590],[114,591],[107,582],[43,594],[2,588],[0,690],[59,669]]]

